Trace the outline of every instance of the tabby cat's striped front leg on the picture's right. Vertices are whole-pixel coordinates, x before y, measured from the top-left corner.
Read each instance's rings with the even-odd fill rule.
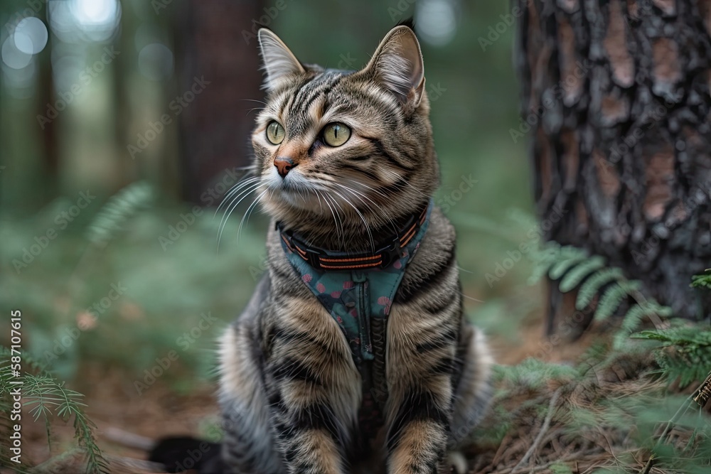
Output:
[[[406,326],[404,326],[406,324]],[[451,425],[456,326],[393,311],[388,323],[387,472],[442,474]]]

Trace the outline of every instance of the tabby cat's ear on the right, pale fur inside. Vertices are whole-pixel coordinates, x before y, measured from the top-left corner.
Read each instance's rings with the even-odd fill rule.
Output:
[[[424,92],[424,64],[417,36],[405,25],[392,28],[380,41],[365,70],[412,109],[417,108]]]

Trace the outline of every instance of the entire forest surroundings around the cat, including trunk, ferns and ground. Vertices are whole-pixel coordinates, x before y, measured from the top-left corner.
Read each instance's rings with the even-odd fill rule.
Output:
[[[88,472],[110,460],[134,474],[117,457],[144,458],[151,440],[219,438],[216,340],[266,268],[266,217],[247,219],[250,199],[218,210],[250,162],[258,23],[304,63],[356,69],[412,17],[442,169],[435,199],[458,230],[466,314],[499,362],[471,472],[710,472],[708,314],[672,318],[711,301],[710,5],[3,0],[0,412],[20,310],[23,463],[78,441]],[[592,60],[588,75],[568,73],[577,59]],[[539,120],[529,100],[550,105],[556,85],[564,97]],[[622,139],[624,158],[606,163]],[[563,219],[558,198],[574,210]],[[662,225],[682,200],[689,212]],[[638,247],[668,258],[640,266]],[[10,429],[1,416],[0,465]],[[60,472],[44,467],[34,472]]]

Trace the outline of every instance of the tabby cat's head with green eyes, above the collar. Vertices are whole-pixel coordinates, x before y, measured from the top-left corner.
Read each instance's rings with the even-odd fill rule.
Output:
[[[259,41],[267,100],[252,144],[272,217],[314,239],[356,238],[427,203],[439,167],[412,29],[392,28],[357,71],[302,64],[264,28]]]

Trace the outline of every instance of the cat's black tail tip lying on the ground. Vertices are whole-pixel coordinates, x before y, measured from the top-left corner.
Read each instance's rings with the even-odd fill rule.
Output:
[[[220,443],[191,436],[172,436],[154,444],[149,451],[149,460],[164,465],[168,473],[195,470],[198,474],[227,474],[220,451]]]

